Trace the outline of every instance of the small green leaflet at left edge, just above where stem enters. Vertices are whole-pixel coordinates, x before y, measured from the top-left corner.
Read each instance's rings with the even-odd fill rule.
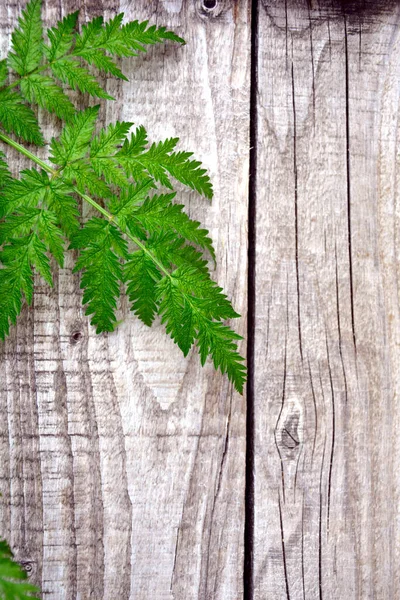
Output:
[[[15,133],[27,142],[43,146],[43,136],[35,114],[17,92],[0,90],[0,125],[8,133]]]

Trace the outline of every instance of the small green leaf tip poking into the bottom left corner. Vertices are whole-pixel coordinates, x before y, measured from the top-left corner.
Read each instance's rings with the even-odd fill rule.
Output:
[[[0,598],[5,600],[38,599],[39,590],[30,584],[27,579],[26,571],[14,561],[13,554],[7,542],[0,540]]]

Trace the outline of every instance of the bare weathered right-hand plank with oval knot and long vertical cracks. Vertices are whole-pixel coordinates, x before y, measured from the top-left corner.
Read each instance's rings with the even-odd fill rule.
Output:
[[[255,600],[400,597],[400,11],[355,4],[259,3]]]

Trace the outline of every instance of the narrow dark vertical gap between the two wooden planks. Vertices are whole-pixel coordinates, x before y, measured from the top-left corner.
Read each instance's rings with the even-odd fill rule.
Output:
[[[243,598],[253,600],[254,573],[254,341],[256,301],[256,189],[257,189],[257,60],[258,0],[251,2],[250,48],[250,148],[248,208],[248,279],[247,279],[247,411],[246,411],[246,489],[244,525]]]

